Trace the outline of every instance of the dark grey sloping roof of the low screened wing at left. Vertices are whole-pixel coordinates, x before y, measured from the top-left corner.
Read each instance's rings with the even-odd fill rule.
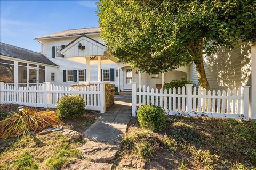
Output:
[[[28,49],[16,47],[0,42],[0,55],[27,60],[36,63],[58,66],[41,53],[33,52]]]

